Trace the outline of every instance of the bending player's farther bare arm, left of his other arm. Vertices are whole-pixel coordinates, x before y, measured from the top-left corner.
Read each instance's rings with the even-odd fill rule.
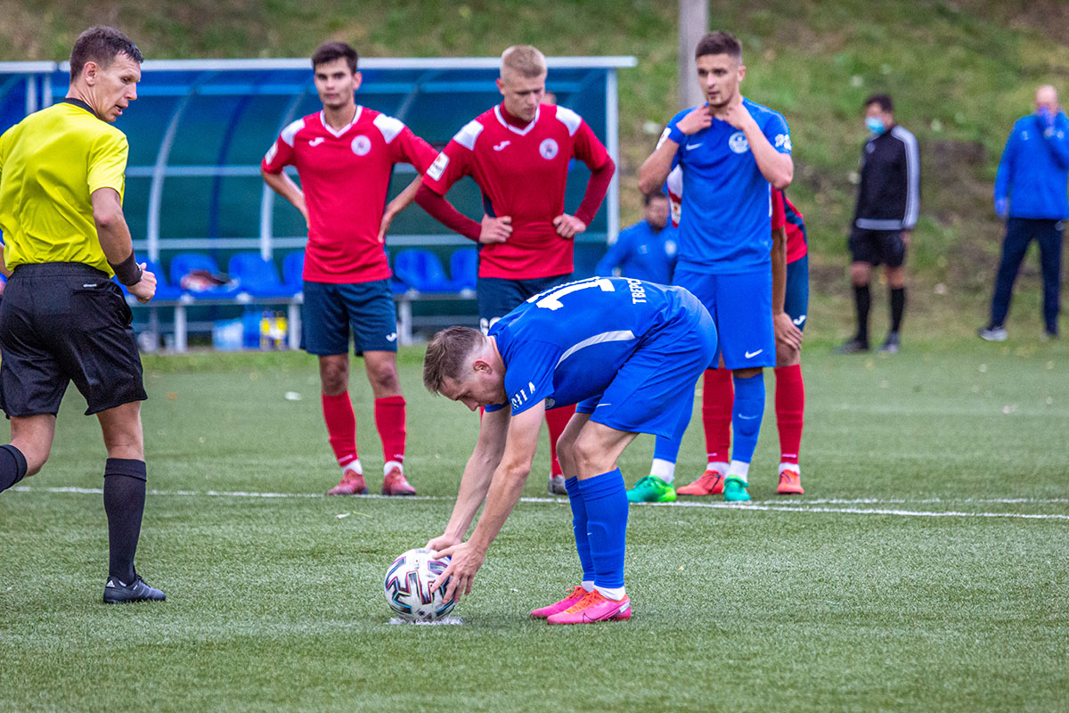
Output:
[[[443,551],[464,541],[464,536],[475,520],[475,513],[479,512],[479,506],[486,499],[491,478],[501,463],[505,439],[509,431],[509,414],[511,412],[506,406],[482,415],[479,441],[475,445],[475,451],[468,459],[467,465],[464,466],[453,514],[449,517],[446,531],[427,543],[428,549]]]

